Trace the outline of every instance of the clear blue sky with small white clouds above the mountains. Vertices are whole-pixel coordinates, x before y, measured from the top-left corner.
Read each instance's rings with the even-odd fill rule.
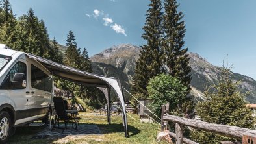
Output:
[[[149,0],[10,0],[16,16],[30,7],[44,19],[50,38],[64,45],[73,30],[90,56],[112,45],[142,45]],[[256,1],[179,0],[185,14],[185,46],[216,66],[229,54],[236,73],[256,79]]]

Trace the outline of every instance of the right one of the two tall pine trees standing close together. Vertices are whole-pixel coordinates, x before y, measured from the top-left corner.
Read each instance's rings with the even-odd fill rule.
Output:
[[[188,48],[183,49],[185,36],[185,21],[183,12],[177,12],[176,0],[165,0],[164,3],[164,42],[162,56],[168,67],[168,73],[179,80],[187,87],[187,94],[190,92],[191,67],[189,65]]]

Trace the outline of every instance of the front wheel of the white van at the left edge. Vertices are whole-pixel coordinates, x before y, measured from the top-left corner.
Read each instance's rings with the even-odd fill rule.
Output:
[[[0,143],[6,143],[10,138],[12,131],[12,120],[8,112],[0,112],[0,132],[3,134],[0,135]]]

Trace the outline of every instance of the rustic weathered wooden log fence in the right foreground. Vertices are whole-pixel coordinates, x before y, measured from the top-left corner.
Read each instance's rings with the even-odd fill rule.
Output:
[[[227,136],[229,138],[240,139],[242,140],[243,144],[256,144],[256,130],[250,130],[248,128],[240,128],[236,126],[207,123],[205,121],[186,119],[184,117],[168,115],[168,110],[169,104],[162,105],[161,130],[167,130],[167,121],[172,121],[173,123],[175,123],[175,133],[169,132],[169,134],[172,138],[175,138],[176,144],[181,144],[183,142],[188,144],[196,144],[196,142],[183,137],[184,126],[189,126],[197,130],[214,132],[216,134],[219,134],[221,136]]]

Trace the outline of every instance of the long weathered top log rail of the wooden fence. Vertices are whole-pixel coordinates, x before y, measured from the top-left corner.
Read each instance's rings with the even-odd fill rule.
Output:
[[[205,121],[186,119],[183,117],[177,117],[173,115],[164,115],[164,121],[173,121],[198,130],[205,130],[207,132],[214,132],[222,136],[228,136],[231,138],[242,139],[242,136],[256,137],[256,130],[250,130],[248,128],[240,128],[236,126],[220,125],[214,123],[207,123]]]

